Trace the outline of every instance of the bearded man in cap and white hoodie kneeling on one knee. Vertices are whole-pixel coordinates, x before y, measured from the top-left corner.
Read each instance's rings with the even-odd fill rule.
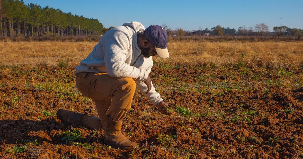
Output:
[[[62,109],[57,117],[65,123],[103,129],[108,145],[136,147],[137,143],[121,133],[122,119],[131,108],[136,87],[161,113],[165,107],[170,108],[149,77],[152,56],[169,56],[167,43],[167,33],[158,25],[145,29],[139,22],[127,22],[106,32],[75,72],[78,90],[95,102],[99,117]]]

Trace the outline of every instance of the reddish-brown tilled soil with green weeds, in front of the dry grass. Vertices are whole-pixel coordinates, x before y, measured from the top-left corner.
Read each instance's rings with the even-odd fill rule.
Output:
[[[58,120],[59,108],[97,115],[74,86],[73,72],[1,67],[1,158],[303,157],[303,69],[154,66],[151,80],[176,113],[158,113],[136,91],[122,124],[123,134],[139,143],[132,150],[105,145],[103,130]],[[68,130],[81,134],[62,140]]]

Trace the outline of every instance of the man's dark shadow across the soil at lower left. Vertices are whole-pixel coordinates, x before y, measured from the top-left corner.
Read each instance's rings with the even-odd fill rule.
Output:
[[[56,117],[46,118],[45,120],[0,120],[0,143],[1,144],[22,144],[22,143],[38,143],[38,144],[65,144],[66,140],[62,140],[64,136],[60,133],[65,131],[73,131],[78,129],[82,132],[82,139],[75,142],[103,143],[103,130],[93,131],[87,127],[78,124],[66,124],[58,122]]]

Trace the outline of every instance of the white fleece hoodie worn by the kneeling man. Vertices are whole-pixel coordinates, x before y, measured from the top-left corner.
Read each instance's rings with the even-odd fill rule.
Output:
[[[152,56],[145,58],[137,43],[138,32],[144,31],[139,22],[126,22],[122,26],[106,32],[86,59],[81,60],[76,72],[108,73],[112,77],[130,77],[135,80],[137,88],[153,105],[163,99],[155,87],[146,94],[144,82],[153,66]]]

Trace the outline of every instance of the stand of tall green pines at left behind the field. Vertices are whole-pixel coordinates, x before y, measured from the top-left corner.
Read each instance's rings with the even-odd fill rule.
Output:
[[[88,19],[71,12],[21,0],[0,0],[0,36],[87,36],[104,34],[98,19]]]

